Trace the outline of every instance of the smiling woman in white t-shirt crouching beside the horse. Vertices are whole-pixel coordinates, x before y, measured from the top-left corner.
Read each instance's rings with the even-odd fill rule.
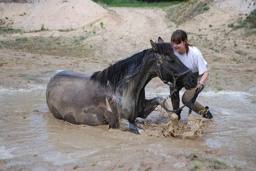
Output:
[[[175,50],[175,55],[184,63],[189,69],[197,77],[197,88],[199,89],[202,87],[202,84],[205,85],[209,75],[209,68],[207,67],[207,62],[204,60],[202,53],[193,45],[187,43],[187,33],[183,30],[176,30],[171,35],[171,43],[173,43],[173,47]],[[186,102],[190,101],[194,96],[196,88],[192,90],[186,90],[182,96],[182,103],[186,104]],[[173,103],[173,108],[179,108],[179,92],[176,93],[172,98],[171,101]],[[190,107],[190,104],[187,105]],[[203,115],[204,118],[211,119],[213,115],[211,115],[209,108],[203,107],[197,101],[194,103],[193,111]],[[180,111],[181,112],[181,111]],[[177,112],[179,119],[180,119],[180,112]]]

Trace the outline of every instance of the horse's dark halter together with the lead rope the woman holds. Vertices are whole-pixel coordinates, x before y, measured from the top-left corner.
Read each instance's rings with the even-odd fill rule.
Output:
[[[190,101],[188,101],[186,104],[184,104],[184,106],[182,106],[182,107],[180,107],[179,109],[176,109],[176,110],[169,110],[169,109],[167,109],[167,108],[165,107],[165,104],[164,104],[164,103],[165,103],[165,101],[166,101],[167,99],[169,99],[171,96],[173,96],[173,94],[177,91],[177,89],[175,88],[176,80],[177,80],[179,77],[181,77],[181,76],[187,74],[188,72],[190,72],[191,69],[188,69],[188,70],[186,70],[185,72],[182,72],[182,73],[180,73],[180,74],[174,74],[171,70],[169,70],[169,69],[163,64],[162,61],[160,61],[160,59],[157,57],[156,53],[154,53],[154,57],[156,58],[156,61],[157,61],[157,63],[158,63],[158,71],[159,71],[159,76],[160,76],[159,78],[160,78],[165,84],[167,84],[169,87],[173,88],[173,90],[171,91],[170,95],[167,96],[167,97],[165,97],[165,99],[164,99],[164,101],[163,101],[163,108],[164,108],[166,111],[168,111],[168,112],[178,112],[179,110],[181,110],[182,108],[184,108],[185,106],[187,106],[189,103],[191,103],[191,106],[190,106],[189,111],[188,111],[188,115],[190,115],[190,114],[191,114],[191,111],[192,111],[192,109],[193,109],[194,103],[195,103],[195,101],[196,101],[196,99],[197,99],[197,96],[198,96],[199,93],[204,89],[204,84],[202,85],[202,87],[200,87],[200,89],[198,89],[198,88],[196,89],[196,92],[195,92],[195,94],[194,94],[194,97],[193,97]],[[162,68],[163,68],[165,71],[167,71],[171,76],[173,76],[173,85],[169,84],[168,81],[165,81],[165,80],[163,79],[163,77],[162,77]]]

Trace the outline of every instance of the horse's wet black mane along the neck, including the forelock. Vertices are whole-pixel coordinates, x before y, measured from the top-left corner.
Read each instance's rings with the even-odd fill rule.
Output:
[[[157,45],[157,53],[164,56],[173,56],[173,46],[170,43],[161,43]],[[101,86],[106,87],[107,83],[110,83],[111,88],[116,91],[119,83],[125,80],[130,80],[134,75],[136,75],[140,67],[142,67],[149,57],[153,55],[153,50],[146,49],[142,52],[136,53],[133,56],[117,61],[115,64],[110,65],[103,71],[97,71],[90,77],[91,80],[97,81]]]

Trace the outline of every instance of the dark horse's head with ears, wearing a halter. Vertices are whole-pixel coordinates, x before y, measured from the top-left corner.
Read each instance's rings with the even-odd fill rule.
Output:
[[[161,37],[158,43],[150,40],[156,61],[156,74],[162,81],[174,82],[186,89],[196,88],[197,78],[181,61],[174,55],[173,45],[164,43]]]

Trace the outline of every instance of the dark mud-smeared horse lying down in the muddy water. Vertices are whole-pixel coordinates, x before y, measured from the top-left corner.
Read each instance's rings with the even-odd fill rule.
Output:
[[[56,118],[73,124],[89,126],[107,125],[111,128],[141,134],[144,129],[133,124],[137,117],[146,118],[163,97],[145,99],[145,86],[153,77],[172,82],[169,73],[180,74],[188,68],[174,55],[173,46],[150,40],[151,49],[116,62],[103,71],[87,75],[66,70],[53,76],[47,85],[46,101]],[[159,64],[164,68],[159,69]],[[177,84],[186,89],[195,88],[197,79],[189,71],[180,76]],[[169,106],[168,106],[169,107]],[[178,119],[175,113],[168,113]]]

